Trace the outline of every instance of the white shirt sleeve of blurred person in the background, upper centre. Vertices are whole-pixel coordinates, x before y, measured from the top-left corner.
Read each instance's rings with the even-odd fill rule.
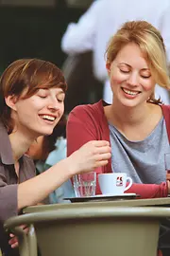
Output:
[[[99,2],[100,0],[93,2],[90,9],[80,17],[77,23],[69,24],[61,39],[63,52],[76,54],[93,50]]]

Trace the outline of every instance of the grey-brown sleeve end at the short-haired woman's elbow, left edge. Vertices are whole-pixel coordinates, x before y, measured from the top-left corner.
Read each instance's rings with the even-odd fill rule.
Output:
[[[8,185],[6,177],[0,174],[0,221],[4,222],[18,214],[18,185]]]

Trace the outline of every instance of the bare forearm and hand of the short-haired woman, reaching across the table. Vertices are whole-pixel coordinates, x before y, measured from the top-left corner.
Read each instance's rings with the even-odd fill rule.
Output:
[[[107,141],[90,141],[46,172],[18,185],[18,210],[41,202],[75,174],[92,172],[110,158]]]

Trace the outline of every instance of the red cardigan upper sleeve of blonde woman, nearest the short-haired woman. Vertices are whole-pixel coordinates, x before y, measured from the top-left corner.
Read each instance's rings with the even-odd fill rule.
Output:
[[[77,106],[69,115],[67,127],[67,156],[74,153],[82,145],[91,140],[98,140],[96,127],[91,114],[83,108]],[[102,173],[102,168],[95,169],[96,174]]]

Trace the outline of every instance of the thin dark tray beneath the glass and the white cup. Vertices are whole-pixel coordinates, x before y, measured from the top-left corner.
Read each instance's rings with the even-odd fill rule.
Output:
[[[116,201],[116,200],[129,200],[140,197],[139,194],[135,192],[125,192],[122,194],[96,194],[94,196],[87,197],[69,197],[64,198],[65,200],[70,200],[72,203],[80,202],[99,202],[99,201]]]

